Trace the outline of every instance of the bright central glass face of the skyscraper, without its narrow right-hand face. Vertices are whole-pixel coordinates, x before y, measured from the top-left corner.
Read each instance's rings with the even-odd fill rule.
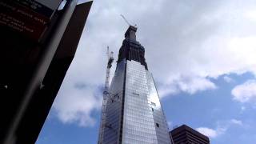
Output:
[[[145,66],[127,61],[122,143],[158,143]]]

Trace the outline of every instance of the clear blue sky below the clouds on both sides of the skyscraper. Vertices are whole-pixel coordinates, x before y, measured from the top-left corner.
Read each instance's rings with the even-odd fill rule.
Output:
[[[227,82],[224,77],[231,79]],[[209,133],[211,143],[253,144],[256,141],[256,107],[250,103],[234,101],[231,94],[234,86],[251,79],[254,79],[254,75],[250,73],[222,75],[214,79],[218,86],[215,90],[198,94],[180,93],[162,98],[162,107],[170,130],[182,124],[194,129],[206,127],[216,133]],[[85,127],[75,123],[63,124],[51,110],[37,143],[96,143],[99,114],[99,111],[94,111],[91,116],[97,119],[97,122],[94,126]]]

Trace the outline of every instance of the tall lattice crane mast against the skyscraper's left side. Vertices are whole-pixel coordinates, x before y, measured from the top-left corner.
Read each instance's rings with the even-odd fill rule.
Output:
[[[107,46],[107,66],[106,66],[106,80],[103,91],[103,100],[102,100],[102,118],[100,124],[100,132],[98,135],[98,144],[102,144],[103,133],[106,126],[106,101],[109,97],[109,82],[110,82],[110,68],[112,67],[112,63],[114,62],[113,51],[110,52],[109,46]]]

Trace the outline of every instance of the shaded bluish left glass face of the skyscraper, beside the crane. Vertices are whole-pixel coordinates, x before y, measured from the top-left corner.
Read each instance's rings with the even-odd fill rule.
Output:
[[[106,126],[103,132],[103,144],[119,143],[125,69],[126,61],[123,60],[118,63],[111,82],[109,98],[106,100]]]

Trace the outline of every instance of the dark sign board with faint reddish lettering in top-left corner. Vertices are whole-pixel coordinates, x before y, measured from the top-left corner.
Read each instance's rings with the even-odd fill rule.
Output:
[[[0,26],[38,41],[53,13],[50,7],[33,0],[3,0],[0,2]]]

